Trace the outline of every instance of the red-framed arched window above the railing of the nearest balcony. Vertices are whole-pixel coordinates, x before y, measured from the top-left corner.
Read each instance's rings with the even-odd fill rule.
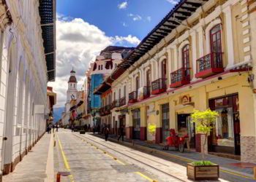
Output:
[[[211,28],[210,40],[211,40],[211,52],[222,52],[222,34],[220,24]]]

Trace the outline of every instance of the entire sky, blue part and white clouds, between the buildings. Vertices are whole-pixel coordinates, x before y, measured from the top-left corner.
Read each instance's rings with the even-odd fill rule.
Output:
[[[78,90],[90,63],[110,45],[136,47],[177,0],[57,0],[56,107],[67,101],[70,69]]]

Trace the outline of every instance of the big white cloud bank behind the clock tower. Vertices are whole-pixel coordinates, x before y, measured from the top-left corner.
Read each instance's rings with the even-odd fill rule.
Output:
[[[56,107],[66,102],[69,72],[74,67],[78,79],[78,90],[82,87],[85,72],[95,56],[109,45],[137,45],[135,36],[106,36],[105,32],[80,18],[58,16],[56,21],[56,82],[49,82],[57,93]]]

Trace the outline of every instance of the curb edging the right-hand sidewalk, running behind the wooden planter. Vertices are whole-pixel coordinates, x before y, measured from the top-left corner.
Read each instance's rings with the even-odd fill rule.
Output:
[[[93,135],[97,136],[97,137],[100,137],[100,138],[103,138],[102,135],[97,135],[97,134],[93,134]],[[170,153],[167,153],[165,151],[159,151],[157,149],[151,149],[151,148],[148,148],[146,146],[140,146],[140,145],[137,145],[137,144],[129,143],[127,141],[118,142],[114,138],[109,138],[108,141],[112,141],[114,143],[118,143],[118,144],[123,145],[123,146],[132,146],[132,148],[134,148],[134,149],[140,149],[140,150],[143,150],[143,151],[149,151],[150,153],[154,153],[154,154],[162,154],[165,157],[171,157],[171,158],[175,158],[175,159],[180,159],[180,160],[183,160],[183,161],[186,161],[186,162],[192,162],[193,161],[192,159],[189,159],[187,157],[179,157],[176,154],[170,154]],[[221,172],[223,172],[223,173],[231,173],[233,175],[238,175],[238,176],[243,177],[243,178],[254,179],[253,175],[249,175],[247,173],[239,172],[239,171],[236,171],[236,170],[230,170],[230,169],[228,169],[226,167],[220,167],[219,166],[219,170]]]

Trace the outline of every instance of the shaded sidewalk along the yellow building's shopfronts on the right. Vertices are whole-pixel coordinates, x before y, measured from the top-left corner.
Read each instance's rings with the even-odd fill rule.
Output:
[[[99,135],[97,135],[99,136]],[[101,135],[100,135],[101,136]],[[102,136],[101,136],[102,137]],[[118,142],[116,135],[110,135],[110,141]],[[122,144],[120,141],[119,143]],[[169,148],[169,151],[162,150],[162,146],[154,143],[146,143],[145,141],[139,141],[139,140],[133,140],[129,141],[126,138],[124,138],[124,145],[132,146],[134,145],[135,148],[151,151],[151,153],[157,153],[160,155],[165,155],[165,157],[170,157],[174,159],[181,160],[183,162],[179,162],[182,165],[187,165],[188,162],[192,161],[198,161],[201,160],[201,154],[195,151],[184,151],[184,153],[181,153],[179,151],[175,151],[172,147]],[[177,162],[178,162],[177,160]],[[227,159],[224,157],[217,157],[214,155],[206,154],[206,160],[209,160],[211,162],[214,162],[215,164],[219,165],[220,170],[222,172],[226,173],[236,173],[237,175],[244,175],[249,178],[253,178],[253,169],[252,168],[242,168],[238,167],[237,165],[233,164],[239,164],[241,161],[235,160],[235,159]],[[255,164],[256,166],[256,164]]]

